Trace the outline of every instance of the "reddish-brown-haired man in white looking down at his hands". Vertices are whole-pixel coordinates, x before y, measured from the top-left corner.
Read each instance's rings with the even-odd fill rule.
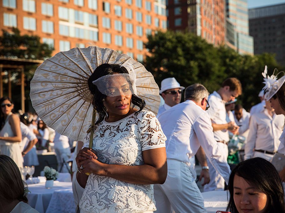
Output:
[[[233,101],[242,94],[242,84],[237,78],[228,78],[224,80],[219,90],[214,91],[209,95],[209,104],[211,108],[207,110],[214,131],[214,136],[218,142],[218,146],[223,150],[223,160],[227,160],[229,131],[233,134],[238,133],[239,127],[234,122],[226,121],[226,107],[225,103]],[[204,186],[204,191],[224,190],[224,178],[216,172],[216,169],[211,165],[209,159],[210,183]]]

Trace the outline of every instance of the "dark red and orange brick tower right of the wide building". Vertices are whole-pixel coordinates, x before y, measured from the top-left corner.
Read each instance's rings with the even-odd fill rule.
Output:
[[[225,0],[169,0],[169,29],[189,30],[211,44],[225,43]]]

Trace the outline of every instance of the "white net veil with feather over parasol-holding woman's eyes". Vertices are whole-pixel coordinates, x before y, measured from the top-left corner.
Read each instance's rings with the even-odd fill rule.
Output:
[[[115,97],[122,94],[137,95],[135,80],[135,68],[133,65],[125,62],[120,67],[125,67],[128,73],[117,73],[113,75],[104,75],[97,80],[92,81],[98,90],[109,97]]]

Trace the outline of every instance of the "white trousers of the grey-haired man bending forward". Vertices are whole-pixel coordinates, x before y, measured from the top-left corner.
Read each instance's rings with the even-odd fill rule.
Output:
[[[167,159],[164,184],[154,184],[156,213],[207,212],[202,194],[195,182],[196,172],[184,162]],[[171,209],[172,207],[172,209]]]

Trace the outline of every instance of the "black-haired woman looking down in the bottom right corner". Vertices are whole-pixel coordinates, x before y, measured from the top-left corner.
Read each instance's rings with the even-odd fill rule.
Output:
[[[229,178],[231,213],[284,213],[284,192],[281,179],[269,161],[255,157],[240,162]]]

